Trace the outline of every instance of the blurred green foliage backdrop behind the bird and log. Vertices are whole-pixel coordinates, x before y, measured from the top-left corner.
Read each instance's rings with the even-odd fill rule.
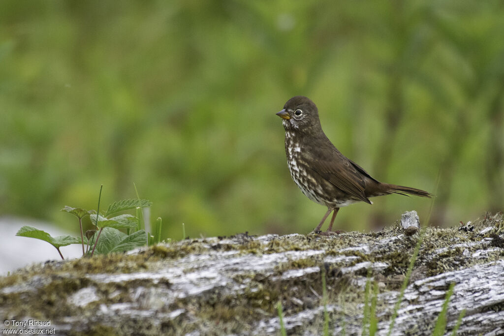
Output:
[[[74,230],[62,207],[135,182],[164,237],[307,233],[326,209],[287,169],[294,95],[373,177],[435,193],[431,224],[503,210],[501,1],[3,0],[0,215]],[[335,227],[431,206],[373,202]]]

